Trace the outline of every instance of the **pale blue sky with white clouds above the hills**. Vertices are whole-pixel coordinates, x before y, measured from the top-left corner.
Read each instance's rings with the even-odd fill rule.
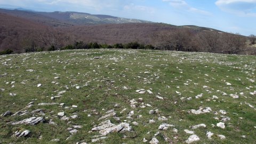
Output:
[[[256,35],[256,0],[0,0],[0,7],[108,14]]]

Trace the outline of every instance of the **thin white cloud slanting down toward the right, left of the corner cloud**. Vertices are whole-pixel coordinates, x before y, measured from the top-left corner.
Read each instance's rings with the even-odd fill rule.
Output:
[[[200,13],[200,14],[204,14],[204,15],[211,15],[210,12],[200,10],[193,6],[190,6],[185,0],[162,0],[162,1],[168,2],[172,7],[176,8],[176,9],[182,9],[182,10],[186,10],[189,12]]]

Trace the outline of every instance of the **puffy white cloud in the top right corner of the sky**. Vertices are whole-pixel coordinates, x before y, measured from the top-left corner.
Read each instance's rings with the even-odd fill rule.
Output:
[[[256,0],[218,0],[215,4],[225,12],[256,17]]]

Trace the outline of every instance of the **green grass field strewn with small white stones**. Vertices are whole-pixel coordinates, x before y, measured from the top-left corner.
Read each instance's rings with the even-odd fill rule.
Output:
[[[12,114],[0,117],[0,143],[186,143],[193,132],[195,143],[254,143],[255,69],[255,56],[212,53],[98,49],[1,55],[0,114]],[[44,122],[13,125],[33,116]],[[92,130],[108,119],[129,126],[107,134]],[[163,123],[170,125],[158,129]],[[198,124],[205,126],[191,127]],[[26,137],[14,134],[25,130]]]

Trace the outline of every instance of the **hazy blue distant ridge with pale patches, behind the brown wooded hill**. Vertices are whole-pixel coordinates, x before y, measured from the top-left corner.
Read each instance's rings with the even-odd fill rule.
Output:
[[[90,14],[82,12],[36,12],[27,9],[0,9],[0,13],[10,14],[49,26],[98,25],[118,23],[153,23],[146,20],[119,18],[111,15]]]

